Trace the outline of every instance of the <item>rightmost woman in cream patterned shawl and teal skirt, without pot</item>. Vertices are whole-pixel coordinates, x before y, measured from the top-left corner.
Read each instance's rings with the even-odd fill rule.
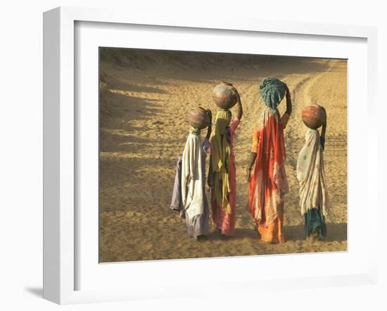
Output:
[[[305,145],[298,155],[297,179],[300,182],[300,207],[304,216],[305,237],[310,242],[326,236],[325,217],[328,193],[324,173],[326,122],[320,136],[317,129],[307,129]]]

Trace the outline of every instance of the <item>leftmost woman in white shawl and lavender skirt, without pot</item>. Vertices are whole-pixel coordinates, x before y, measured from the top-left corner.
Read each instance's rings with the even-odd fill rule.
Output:
[[[196,240],[209,234],[209,208],[205,196],[205,158],[210,148],[211,110],[207,135],[202,142],[201,131],[191,127],[183,154],[177,161],[175,186],[170,208],[186,219],[188,235]]]

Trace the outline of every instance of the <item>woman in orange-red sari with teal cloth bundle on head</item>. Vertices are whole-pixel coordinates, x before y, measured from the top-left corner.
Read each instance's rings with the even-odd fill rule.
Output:
[[[272,78],[263,80],[260,91],[266,107],[260,125],[253,132],[246,169],[250,183],[249,210],[262,241],[284,243],[284,195],[288,192],[284,127],[291,114],[291,96],[284,82]],[[285,95],[286,113],[281,117],[277,106]]]

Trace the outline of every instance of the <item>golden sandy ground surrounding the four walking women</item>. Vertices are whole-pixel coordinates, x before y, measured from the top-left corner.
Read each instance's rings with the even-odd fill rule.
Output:
[[[100,262],[346,250],[346,70],[343,60],[106,50],[100,65]],[[282,244],[259,241],[246,209],[245,167],[263,108],[259,84],[264,77],[286,82],[293,99],[285,130],[290,192]],[[221,80],[239,89],[244,110],[234,141],[236,236],[223,241],[212,232],[196,242],[186,235],[184,220],[169,209],[175,165],[189,130],[186,113],[198,105],[215,113],[212,88]],[[296,179],[306,132],[300,113],[310,103],[327,112],[324,157],[331,201],[328,236],[312,246],[304,240]],[[284,108],[281,103],[279,110]]]

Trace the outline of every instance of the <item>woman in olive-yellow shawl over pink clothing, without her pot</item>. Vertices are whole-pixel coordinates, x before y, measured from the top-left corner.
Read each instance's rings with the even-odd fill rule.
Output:
[[[231,122],[231,111],[220,110],[215,118],[211,135],[210,170],[212,224],[223,237],[234,236],[236,220],[236,169],[233,140],[236,127],[243,115],[241,97],[235,87],[229,86],[237,98],[236,118]]]

